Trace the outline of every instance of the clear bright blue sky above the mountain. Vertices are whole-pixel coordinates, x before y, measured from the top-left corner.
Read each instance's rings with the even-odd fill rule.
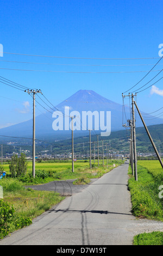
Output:
[[[0,76],[27,88],[41,89],[53,105],[80,89],[94,90],[122,104],[122,93],[159,60],[162,21],[162,1],[158,0],[3,1]],[[151,80],[159,72],[155,70],[162,67],[163,60],[134,89]],[[163,106],[162,82],[137,94],[142,111],[149,113]],[[3,83],[0,86],[0,127],[32,118],[32,98]],[[129,101],[125,99],[125,103]],[[44,111],[37,107],[40,110],[36,109],[36,114]]]

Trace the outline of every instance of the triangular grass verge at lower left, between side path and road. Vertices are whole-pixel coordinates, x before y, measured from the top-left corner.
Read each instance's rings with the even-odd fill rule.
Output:
[[[8,204],[7,207],[14,211],[10,221],[4,225],[5,209],[3,211],[0,209],[0,239],[17,229],[30,225],[35,217],[65,198],[55,192],[25,189],[23,182],[14,179],[4,179],[1,185],[3,185],[4,197],[0,201],[3,200]]]

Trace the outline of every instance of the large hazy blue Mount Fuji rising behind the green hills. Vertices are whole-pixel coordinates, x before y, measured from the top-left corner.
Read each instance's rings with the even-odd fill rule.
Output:
[[[97,111],[100,113],[103,111],[106,113],[107,111],[111,112],[111,131],[123,130],[122,127],[122,118],[125,119],[123,121],[127,122],[126,119],[130,119],[130,108],[125,106],[125,113],[123,111],[123,105],[106,99],[105,97],[97,94],[93,90],[79,90],[74,93],[72,96],[68,97],[66,100],[62,101],[56,107],[49,109],[45,114],[37,115],[35,118],[35,126],[36,126],[36,138],[37,139],[48,139],[48,140],[60,140],[71,138],[71,130],[53,130],[53,122],[56,120],[52,117],[52,113],[55,111],[60,111],[63,113],[63,119],[66,117],[65,109],[69,109],[70,113],[72,111],[77,111],[81,116],[83,111]],[[71,121],[71,118],[69,118]],[[150,119],[150,118],[149,118]],[[65,120],[65,119],[64,119]],[[82,119],[81,119],[82,120]],[[147,120],[146,125],[156,125],[162,124],[162,119],[152,119]],[[95,123],[95,121],[93,122]],[[63,123],[63,126],[65,123]],[[77,125],[77,123],[76,123]],[[82,126],[82,121],[78,121],[78,126]],[[139,117],[139,114],[136,115],[136,127],[141,127],[142,122]],[[79,127],[78,127],[79,128]],[[86,127],[87,128],[87,127]],[[95,125],[92,127],[92,130],[95,129]],[[99,134],[102,130],[96,130],[95,132]],[[33,119],[24,121],[23,123],[15,124],[9,127],[5,127],[0,129],[0,134],[5,136],[17,136],[17,137],[30,137],[32,138],[33,132]],[[88,136],[89,131],[87,129],[84,131],[74,130],[74,137],[79,136]]]

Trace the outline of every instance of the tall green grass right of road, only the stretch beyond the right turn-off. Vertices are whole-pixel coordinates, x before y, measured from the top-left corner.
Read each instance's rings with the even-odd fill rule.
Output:
[[[145,162],[145,163],[143,163]],[[149,161],[151,165],[155,161]],[[162,199],[158,196],[160,178],[156,172],[149,172],[147,161],[138,161],[138,181],[130,178],[128,187],[131,193],[132,211],[136,217],[147,217],[156,220],[163,220]],[[145,167],[143,167],[145,164]],[[130,173],[130,169],[129,169]]]

